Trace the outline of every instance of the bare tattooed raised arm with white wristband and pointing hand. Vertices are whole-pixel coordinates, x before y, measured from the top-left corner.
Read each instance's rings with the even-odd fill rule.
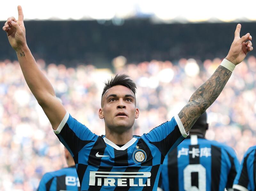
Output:
[[[235,66],[244,60],[248,52],[253,50],[252,36],[247,33],[240,38],[240,30],[241,25],[238,24],[228,56],[222,61],[212,76],[193,93],[187,105],[179,112],[178,115],[186,133],[188,133],[199,116],[220,95]]]

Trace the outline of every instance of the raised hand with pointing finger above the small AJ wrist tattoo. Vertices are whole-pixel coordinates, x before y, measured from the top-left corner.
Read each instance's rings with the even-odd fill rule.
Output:
[[[27,45],[23,12],[20,5],[18,6],[18,13],[18,20],[14,17],[9,17],[3,27],[3,30],[7,33],[12,48],[16,51],[19,51],[22,47]]]

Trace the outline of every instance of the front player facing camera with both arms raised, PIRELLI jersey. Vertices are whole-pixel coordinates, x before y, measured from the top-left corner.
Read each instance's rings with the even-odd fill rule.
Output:
[[[81,190],[156,190],[165,155],[187,137],[196,119],[220,95],[235,65],[253,50],[252,36],[247,33],[240,38],[238,24],[228,55],[212,76],[177,115],[142,136],[132,135],[139,117],[136,84],[125,74],[116,75],[105,83],[102,92],[99,118],[105,121],[106,134],[98,136],[73,118],[56,97],[28,48],[20,6],[18,13],[18,20],[8,18],[3,30],[16,51],[28,87],[74,158]]]

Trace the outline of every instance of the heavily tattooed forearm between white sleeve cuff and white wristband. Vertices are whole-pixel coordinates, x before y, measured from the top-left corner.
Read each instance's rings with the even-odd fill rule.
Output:
[[[178,114],[186,132],[189,131],[199,116],[217,99],[231,74],[231,71],[220,65],[212,76],[193,93],[188,104]]]

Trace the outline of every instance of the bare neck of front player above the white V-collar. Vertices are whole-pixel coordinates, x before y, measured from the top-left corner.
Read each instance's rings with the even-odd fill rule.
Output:
[[[123,133],[110,131],[106,128],[106,138],[116,145],[124,145],[132,139],[132,128]]]

